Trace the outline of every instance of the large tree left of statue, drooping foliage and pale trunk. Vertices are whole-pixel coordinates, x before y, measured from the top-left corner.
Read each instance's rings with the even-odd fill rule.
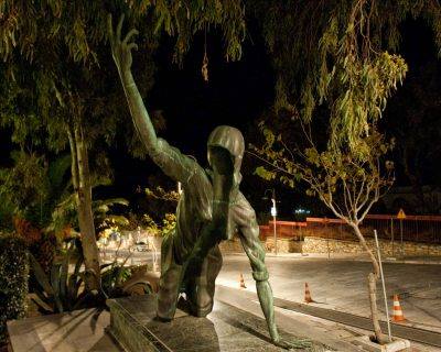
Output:
[[[153,84],[152,54],[162,33],[175,36],[174,59],[182,63],[192,36],[209,24],[222,29],[225,55],[240,56],[244,9],[240,1],[17,1],[0,3],[1,120],[13,139],[60,152],[68,148],[82,233],[86,286],[99,290],[99,258],[92,213],[90,163],[103,161],[100,146],[117,130],[129,129],[132,152],[140,153],[115,75],[109,72],[106,21],[126,13],[141,33],[138,68],[141,94]],[[99,164],[99,163],[97,163]],[[103,170],[103,166],[101,166]],[[99,174],[103,174],[99,173]],[[97,173],[97,175],[99,175]]]

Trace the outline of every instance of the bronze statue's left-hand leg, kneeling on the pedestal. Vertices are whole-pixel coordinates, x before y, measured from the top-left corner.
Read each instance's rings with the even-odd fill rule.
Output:
[[[176,311],[180,294],[182,265],[173,255],[173,237],[168,235],[161,245],[161,278],[159,280],[157,316],[160,320],[170,321]]]

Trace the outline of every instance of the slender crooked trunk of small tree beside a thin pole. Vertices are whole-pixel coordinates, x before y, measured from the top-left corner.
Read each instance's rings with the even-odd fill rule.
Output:
[[[374,272],[369,273],[367,275],[367,287],[369,290],[369,302],[370,302],[370,316],[372,316],[372,321],[373,321],[373,326],[374,326],[375,338],[378,343],[385,344],[389,341],[388,341],[388,338],[385,334],[383,334],[383,332],[381,332],[381,327],[380,327],[379,320],[378,320],[378,307],[377,307],[377,279],[379,277],[379,264],[378,264],[377,258],[374,255],[373,251],[370,251],[370,249],[367,246],[366,240],[365,240],[364,235],[362,234],[362,231],[359,231],[358,224],[357,223],[349,223],[349,224],[353,228],[355,234],[357,235],[359,243],[362,244],[364,250],[369,255],[372,264],[373,264]],[[386,309],[388,309],[388,308],[386,307]]]

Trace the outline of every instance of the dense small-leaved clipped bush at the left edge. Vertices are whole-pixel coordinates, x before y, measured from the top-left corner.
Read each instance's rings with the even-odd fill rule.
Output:
[[[7,321],[26,312],[29,262],[24,241],[0,237],[0,345],[7,342]]]

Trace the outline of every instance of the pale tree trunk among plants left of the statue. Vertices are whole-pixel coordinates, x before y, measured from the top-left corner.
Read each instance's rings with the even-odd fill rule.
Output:
[[[88,292],[98,293],[100,289],[100,268],[92,211],[92,185],[87,148],[79,127],[75,127],[74,133],[69,131],[68,135],[72,154],[72,179],[86,267],[85,284]]]

